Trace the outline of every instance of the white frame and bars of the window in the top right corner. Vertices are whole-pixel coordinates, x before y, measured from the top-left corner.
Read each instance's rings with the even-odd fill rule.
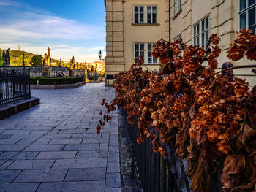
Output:
[[[241,0],[239,0],[238,2],[239,2],[239,5],[238,5],[238,9],[239,9],[239,11],[238,11],[238,14],[239,14],[239,30],[244,28],[244,27],[241,28],[241,15],[244,14],[244,13],[245,13],[245,28],[246,28],[246,30],[248,30],[249,27],[255,26],[255,24],[256,24],[256,1],[255,1],[254,4],[249,6],[249,1],[245,0],[246,4],[245,4],[244,9],[240,9]],[[251,10],[251,9],[255,9],[255,23],[253,25],[249,26],[249,10]],[[254,28],[253,31],[255,32],[255,28]]]

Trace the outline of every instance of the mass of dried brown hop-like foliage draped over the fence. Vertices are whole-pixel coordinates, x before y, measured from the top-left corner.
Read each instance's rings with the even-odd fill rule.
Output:
[[[236,61],[255,58],[255,35],[242,30],[227,51]],[[128,72],[115,77],[116,99],[105,104],[104,120],[121,106],[129,123],[138,123],[138,144],[151,139],[154,152],[167,155],[165,145],[176,147],[178,158],[186,158],[193,191],[210,191],[211,177],[220,159],[225,191],[253,191],[256,172],[256,86],[249,92],[245,80],[214,75],[221,53],[219,37],[213,34],[208,48],[160,40],[152,55],[163,72],[143,71],[143,58]],[[208,61],[208,66],[203,62]],[[154,131],[151,131],[154,129]],[[151,134],[154,133],[154,134]]]

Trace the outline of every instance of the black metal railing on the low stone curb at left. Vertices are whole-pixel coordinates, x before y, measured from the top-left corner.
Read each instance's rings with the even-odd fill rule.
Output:
[[[30,98],[29,70],[0,70],[0,106]]]

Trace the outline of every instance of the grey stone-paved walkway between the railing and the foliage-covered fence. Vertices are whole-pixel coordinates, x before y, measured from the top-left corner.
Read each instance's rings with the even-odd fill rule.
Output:
[[[101,134],[95,129],[101,99],[113,99],[113,88],[31,95],[39,106],[0,121],[0,191],[121,191],[117,113]]]

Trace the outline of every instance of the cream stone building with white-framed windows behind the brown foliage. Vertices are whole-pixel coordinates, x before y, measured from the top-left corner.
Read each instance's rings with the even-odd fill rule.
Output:
[[[170,4],[170,15],[169,15]],[[151,47],[159,39],[182,38],[191,45],[206,46],[208,37],[221,37],[219,68],[230,42],[241,28],[254,30],[255,0],[105,0],[106,9],[106,77],[129,69],[138,55],[144,55],[146,67],[159,69],[151,57]],[[170,27],[169,27],[170,17]],[[255,64],[246,60],[234,65]],[[236,69],[236,77],[256,84],[251,69]],[[113,81],[113,80],[110,80]]]

